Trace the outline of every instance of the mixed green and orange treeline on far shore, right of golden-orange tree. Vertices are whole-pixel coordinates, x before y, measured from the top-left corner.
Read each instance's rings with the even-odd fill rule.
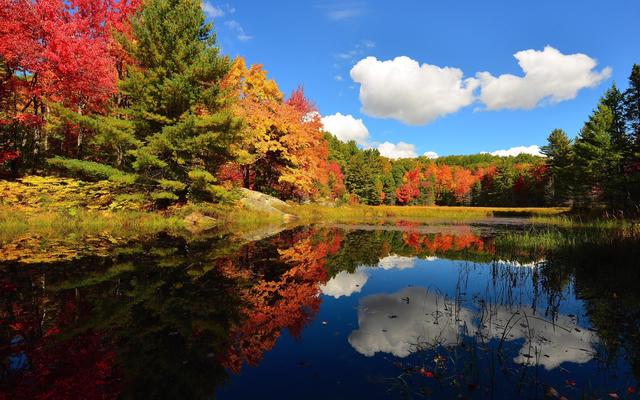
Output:
[[[607,90],[575,140],[556,129],[546,157],[490,154],[389,160],[331,135],[329,159],[366,204],[574,206],[638,213],[640,65],[629,87]]]

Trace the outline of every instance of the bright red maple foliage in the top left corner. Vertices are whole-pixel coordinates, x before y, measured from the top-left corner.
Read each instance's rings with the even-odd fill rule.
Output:
[[[116,92],[112,30],[138,0],[0,0],[0,56],[27,98],[99,107]],[[17,85],[18,86],[18,85]]]

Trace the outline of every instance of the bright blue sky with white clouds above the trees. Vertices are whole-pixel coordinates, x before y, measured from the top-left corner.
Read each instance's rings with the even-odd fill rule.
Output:
[[[285,93],[303,84],[323,116],[340,113],[326,120],[338,136],[388,142],[392,156],[541,146],[554,128],[573,137],[602,93],[614,81],[625,88],[640,63],[637,0],[204,7],[225,54],[263,64]]]

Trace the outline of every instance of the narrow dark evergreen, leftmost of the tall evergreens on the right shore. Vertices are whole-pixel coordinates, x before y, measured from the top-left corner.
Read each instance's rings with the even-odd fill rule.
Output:
[[[542,147],[547,156],[547,165],[551,173],[552,204],[563,205],[571,198],[571,178],[573,167],[573,149],[571,140],[562,129],[554,129],[547,138],[548,144]]]

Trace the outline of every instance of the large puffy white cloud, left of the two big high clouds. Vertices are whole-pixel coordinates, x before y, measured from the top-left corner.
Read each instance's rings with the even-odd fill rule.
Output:
[[[475,78],[463,79],[458,68],[420,65],[405,56],[362,59],[351,69],[351,78],[360,83],[365,114],[409,125],[424,125],[468,106],[479,85]]]

